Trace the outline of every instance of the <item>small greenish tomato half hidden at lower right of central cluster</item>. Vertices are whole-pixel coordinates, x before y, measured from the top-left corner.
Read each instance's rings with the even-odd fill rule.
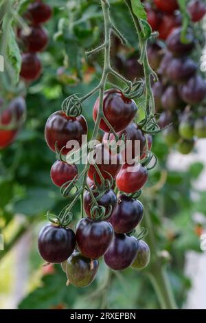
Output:
[[[133,269],[144,269],[150,263],[150,248],[145,241],[139,240],[137,257],[132,265]]]

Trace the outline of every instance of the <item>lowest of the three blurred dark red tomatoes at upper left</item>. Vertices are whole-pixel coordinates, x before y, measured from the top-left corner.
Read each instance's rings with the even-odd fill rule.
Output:
[[[41,62],[34,53],[23,53],[20,75],[27,81],[36,80],[41,74]]]

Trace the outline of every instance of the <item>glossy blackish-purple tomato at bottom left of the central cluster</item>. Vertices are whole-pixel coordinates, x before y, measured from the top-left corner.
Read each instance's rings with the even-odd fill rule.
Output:
[[[38,235],[38,252],[47,263],[62,263],[71,256],[76,236],[69,228],[45,225]]]

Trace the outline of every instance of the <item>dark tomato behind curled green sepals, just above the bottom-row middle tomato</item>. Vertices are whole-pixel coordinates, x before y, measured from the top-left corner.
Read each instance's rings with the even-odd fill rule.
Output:
[[[91,190],[93,190],[95,186],[91,186]],[[98,192],[93,192],[94,197],[98,196]],[[115,206],[117,205],[117,195],[115,192],[110,189],[107,190],[103,195],[101,194],[100,199],[98,199],[98,205],[104,206],[105,215],[113,214],[115,210]],[[93,206],[93,200],[91,198],[91,194],[88,191],[84,192],[84,211],[86,212],[87,216],[91,218],[91,208]]]

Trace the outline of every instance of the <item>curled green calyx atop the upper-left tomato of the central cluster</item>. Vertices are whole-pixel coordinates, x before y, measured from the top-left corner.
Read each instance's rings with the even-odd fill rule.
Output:
[[[62,111],[64,111],[67,116],[74,118],[78,117],[82,113],[80,98],[78,98],[76,94],[68,96],[68,98],[62,102]]]

